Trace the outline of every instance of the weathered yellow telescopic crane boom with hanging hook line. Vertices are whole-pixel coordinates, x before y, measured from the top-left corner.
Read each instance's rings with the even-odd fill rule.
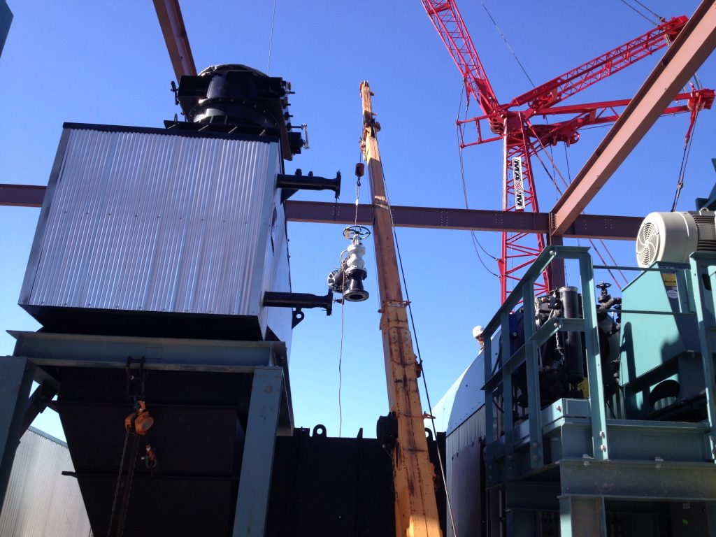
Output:
[[[393,224],[376,137],[379,125],[374,120],[368,82],[361,82],[360,92],[363,100],[361,150],[370,180],[388,402],[390,412],[397,420],[397,442],[393,453],[396,535],[441,537],[435,500],[435,469],[427,453],[417,386],[420,365],[413,352],[407,302],[403,300],[400,287]]]

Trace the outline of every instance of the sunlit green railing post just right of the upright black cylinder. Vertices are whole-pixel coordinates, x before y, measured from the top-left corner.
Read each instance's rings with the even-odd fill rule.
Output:
[[[594,295],[594,269],[591,256],[581,253],[579,276],[582,291],[582,314],[584,316],[584,344],[586,347],[586,368],[589,381],[589,407],[591,410],[591,435],[594,444],[594,458],[609,458],[606,437],[606,410],[604,405],[604,387],[601,381],[601,358],[599,356],[599,337],[596,326],[596,296]]]

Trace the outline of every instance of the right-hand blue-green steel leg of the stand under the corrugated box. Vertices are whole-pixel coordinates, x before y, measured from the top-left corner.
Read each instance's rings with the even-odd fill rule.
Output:
[[[254,369],[233,537],[263,537],[266,531],[283,387],[284,370],[281,367]]]

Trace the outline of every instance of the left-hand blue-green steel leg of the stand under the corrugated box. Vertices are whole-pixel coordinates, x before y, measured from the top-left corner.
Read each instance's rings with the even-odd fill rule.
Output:
[[[0,359],[0,511],[22,435],[35,367],[21,357]]]

